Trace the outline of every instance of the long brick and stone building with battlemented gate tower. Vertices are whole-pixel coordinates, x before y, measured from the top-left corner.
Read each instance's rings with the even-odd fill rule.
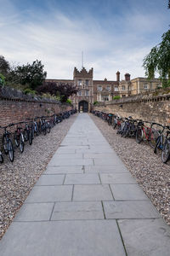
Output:
[[[46,82],[72,83],[77,86],[76,96],[71,96],[71,101],[80,112],[88,112],[94,106],[94,102],[110,102],[115,96],[125,97],[139,94],[146,90],[155,90],[161,87],[160,79],[145,78],[130,79],[126,73],[120,80],[120,72],[116,73],[116,81],[94,80],[94,69],[89,71],[82,67],[81,71],[74,68],[73,79],[46,79]]]

